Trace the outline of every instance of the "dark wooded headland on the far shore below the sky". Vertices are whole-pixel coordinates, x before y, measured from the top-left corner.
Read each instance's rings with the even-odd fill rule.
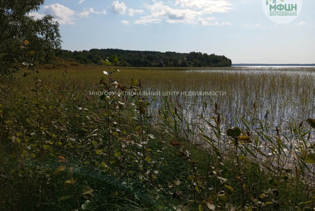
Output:
[[[60,50],[57,57],[73,59],[81,64],[101,64],[100,60],[116,54],[122,67],[230,67],[231,59],[201,52],[176,53],[167,51],[129,51],[120,49],[91,49],[89,51]]]

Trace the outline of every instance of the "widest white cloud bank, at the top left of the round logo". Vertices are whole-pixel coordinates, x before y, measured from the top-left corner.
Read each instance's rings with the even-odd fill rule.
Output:
[[[150,12],[149,15],[140,17],[136,24],[148,23],[188,23],[201,25],[231,25],[229,22],[221,24],[213,23],[211,20],[215,17],[204,17],[212,13],[229,12],[231,4],[225,0],[176,0],[172,8],[164,5],[162,1],[152,0],[153,4],[144,4],[144,7]],[[210,18],[210,19],[209,19]]]

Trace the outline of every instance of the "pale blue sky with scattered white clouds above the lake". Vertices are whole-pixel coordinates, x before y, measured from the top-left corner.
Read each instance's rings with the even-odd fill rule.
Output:
[[[262,0],[46,0],[35,19],[52,15],[62,49],[192,51],[224,55],[232,63],[315,63],[315,1],[276,24]]]

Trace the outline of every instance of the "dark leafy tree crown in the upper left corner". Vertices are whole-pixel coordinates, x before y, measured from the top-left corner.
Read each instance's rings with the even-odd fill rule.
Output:
[[[27,54],[21,54],[21,40],[32,43],[36,63],[48,63],[56,50],[60,49],[59,24],[53,17],[33,19],[29,16],[38,10],[43,0],[2,0],[0,2],[0,75],[10,74],[20,68]],[[35,64],[35,63],[34,63]]]

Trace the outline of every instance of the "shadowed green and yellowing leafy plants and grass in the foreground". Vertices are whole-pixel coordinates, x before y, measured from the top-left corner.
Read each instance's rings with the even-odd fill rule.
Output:
[[[221,105],[207,102],[210,115],[192,118],[172,96],[108,94],[145,89],[133,71],[127,83],[116,80],[127,73],[112,67],[115,55],[104,58],[92,86],[101,96],[89,95],[91,86],[70,71],[44,78],[31,60],[20,85],[11,84],[12,99],[0,101],[4,210],[314,207],[312,119],[274,127],[253,105],[229,125]]]

